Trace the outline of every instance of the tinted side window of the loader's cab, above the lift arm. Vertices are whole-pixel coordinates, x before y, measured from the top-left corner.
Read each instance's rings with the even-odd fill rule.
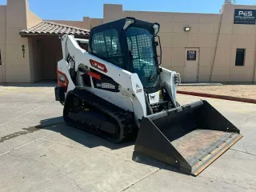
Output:
[[[99,58],[123,68],[122,52],[117,30],[104,30],[94,34],[91,50]]]

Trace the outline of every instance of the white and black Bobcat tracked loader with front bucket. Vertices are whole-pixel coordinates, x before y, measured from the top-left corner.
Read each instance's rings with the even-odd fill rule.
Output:
[[[159,29],[122,18],[95,26],[89,39],[62,36],[55,97],[68,125],[111,142],[135,134],[134,151],[198,175],[242,135],[206,101],[179,106],[180,75],[159,66]]]

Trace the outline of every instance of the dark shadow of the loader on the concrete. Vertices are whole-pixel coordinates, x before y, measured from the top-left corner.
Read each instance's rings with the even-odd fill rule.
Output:
[[[134,140],[115,144],[107,141],[104,138],[100,138],[98,136],[95,136],[94,134],[90,134],[86,132],[86,130],[79,130],[71,126],[66,126],[62,117],[44,119],[40,122],[40,125],[35,127],[41,130],[51,130],[51,131],[57,132],[59,134],[62,134],[66,138],[69,138],[74,142],[78,142],[79,144],[82,144],[83,146],[86,146],[89,148],[104,146],[109,148],[110,150],[119,150],[128,146],[134,147],[135,139],[136,139],[134,138]],[[178,170],[174,166],[170,166],[164,162],[159,162],[157,160],[154,160],[153,158],[149,158],[145,155],[139,154],[138,152],[133,151],[130,153],[133,153],[132,160],[134,162],[141,163],[147,166],[154,166],[162,170],[170,170],[179,174],[186,174]]]

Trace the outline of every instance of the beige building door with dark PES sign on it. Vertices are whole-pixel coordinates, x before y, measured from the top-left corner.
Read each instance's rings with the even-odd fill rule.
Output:
[[[185,64],[182,82],[198,82],[199,48],[185,49]]]

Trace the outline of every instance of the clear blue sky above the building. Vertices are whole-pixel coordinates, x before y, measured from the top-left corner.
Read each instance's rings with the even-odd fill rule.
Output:
[[[218,14],[224,0],[28,0],[30,10],[42,19],[81,21],[103,18],[103,4],[122,4],[123,10]],[[237,0],[238,5],[256,5],[256,0]],[[6,5],[6,0],[0,0]]]

